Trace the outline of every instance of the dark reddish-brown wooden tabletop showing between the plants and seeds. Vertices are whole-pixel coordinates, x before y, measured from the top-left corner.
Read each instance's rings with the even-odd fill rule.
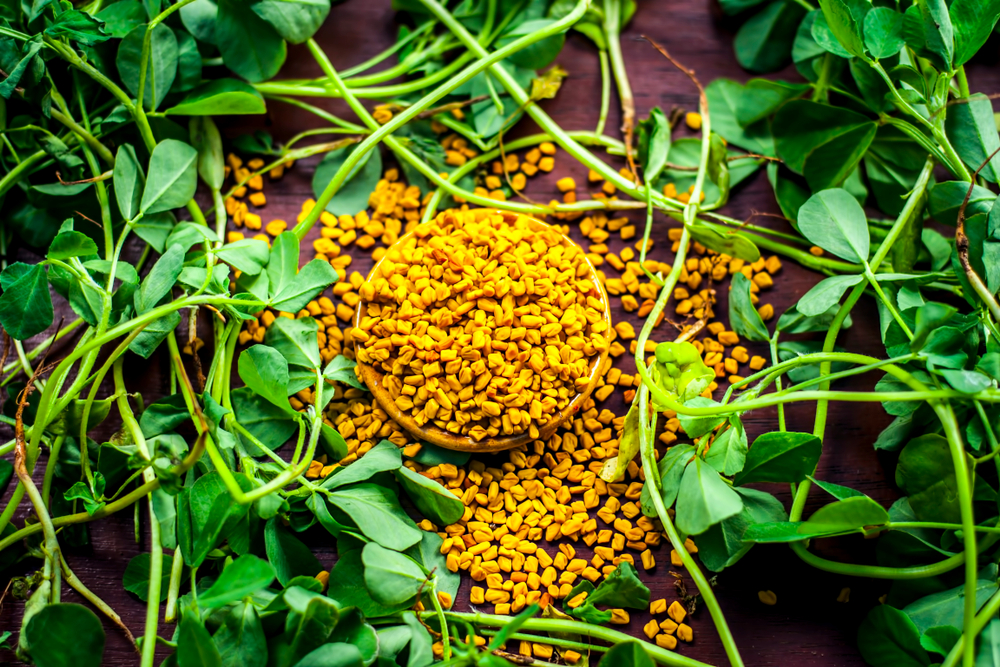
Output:
[[[351,0],[336,6],[317,39],[326,49],[335,67],[344,69],[375,55],[395,38],[397,30],[395,14],[388,0]],[[690,81],[673,68],[653,48],[639,36],[647,34],[662,45],[680,62],[696,70],[705,84],[718,77],[729,77],[745,81],[750,75],[741,70],[735,61],[732,38],[736,24],[721,17],[717,7],[707,0],[639,0],[638,12],[623,35],[622,48],[625,53],[629,75],[635,91],[639,117],[644,117],[652,106],[660,106],[665,111],[677,106],[693,109],[697,104],[697,93]],[[984,49],[980,60],[970,69],[972,89],[986,93],[1000,90],[1000,75],[996,70],[997,43],[994,38]],[[543,107],[565,129],[593,129],[600,103],[600,74],[597,57],[592,45],[579,34],[572,34],[558,62],[570,76],[564,83],[557,99],[546,101]],[[315,66],[303,47],[291,47],[288,64],[281,76],[317,76]],[[789,68],[780,75],[782,78],[800,80],[794,69]],[[279,77],[280,78],[280,77]],[[345,105],[335,100],[319,100],[316,103],[338,114],[349,117]],[[616,133],[619,114],[614,110],[609,118],[607,132]],[[253,124],[240,121],[226,128],[228,136],[265,127],[276,139],[284,140],[308,127],[318,127],[314,117],[298,109],[278,103],[269,103],[268,116],[255,120]],[[525,121],[518,133],[532,130],[530,121]],[[686,133],[686,129],[681,129]],[[285,219],[294,221],[302,201],[312,196],[311,178],[317,160],[299,163],[283,180],[265,186],[268,204],[262,211],[264,221]],[[557,196],[555,180],[561,176],[573,176],[577,183],[586,183],[586,170],[560,151],[556,169],[552,174],[531,181],[527,190],[535,199],[547,201]],[[731,216],[745,219],[754,213],[777,213],[778,208],[770,193],[764,174],[758,173],[748,182],[741,184],[732,201],[725,209]],[[762,218],[760,224],[778,225],[781,221]],[[759,221],[755,221],[759,222]],[[658,217],[653,231],[655,249],[652,257],[668,261],[672,258],[667,241],[667,229],[674,223]],[[582,240],[576,229],[572,235]],[[612,250],[622,246],[617,238],[612,242]],[[305,245],[307,251],[310,250]],[[131,248],[135,253],[136,248]],[[350,267],[366,273],[371,266],[369,253],[353,249],[354,263]],[[134,256],[133,256],[134,258]],[[303,253],[303,260],[311,258],[310,252]],[[37,261],[38,256],[30,249],[18,249],[11,261]],[[819,277],[807,270],[784,263],[784,268],[776,277],[775,287],[767,292],[764,302],[773,303],[776,312],[782,312],[805,293]],[[716,311],[726,313],[725,289],[720,290],[720,303]],[[69,312],[68,308],[64,308]],[[672,312],[672,311],[671,311]],[[639,324],[634,317],[626,315],[617,300],[613,301],[613,317],[627,319]],[[72,317],[72,314],[70,313]],[[854,327],[841,338],[841,344],[848,349],[883,355],[878,332],[877,316],[870,300],[862,301],[855,311]],[[669,326],[664,324],[654,337],[665,340],[674,336]],[[71,345],[72,343],[69,343]],[[66,349],[66,346],[62,348]],[[627,356],[627,355],[626,355]],[[167,393],[164,355],[154,356],[146,362],[131,358],[126,363],[126,383],[131,390],[140,391],[148,402]],[[628,360],[619,359],[618,365],[625,372]],[[866,377],[842,383],[847,389],[870,389],[877,378]],[[609,400],[608,407],[618,414],[624,414],[621,392]],[[790,430],[811,431],[811,405],[796,404],[789,410]],[[113,412],[108,423],[118,423]],[[820,461],[818,477],[839,484],[852,486],[871,495],[888,506],[898,497],[893,484],[894,461],[880,460],[872,448],[878,432],[889,419],[881,406],[875,404],[835,404],[831,406],[829,426],[823,457]],[[745,419],[749,437],[752,439],[765,431],[777,427],[774,410],[760,410]],[[4,438],[9,438],[3,433]],[[42,466],[39,466],[41,469]],[[13,488],[13,485],[11,485]],[[762,485],[777,494],[786,507],[790,498],[787,488],[777,485]],[[9,497],[9,490],[7,496]],[[827,502],[822,492],[814,492],[806,513]],[[4,498],[6,501],[6,498]],[[142,513],[145,520],[145,512]],[[16,522],[22,525],[25,512],[19,512]],[[320,532],[307,534],[307,541],[314,547],[321,562],[332,567],[335,559],[332,540]],[[128,560],[148,549],[148,535],[143,535],[137,543],[134,532],[133,513],[122,512],[101,520],[91,526],[92,544],[86,549],[71,550],[67,560],[83,582],[95,593],[109,602],[122,616],[133,633],[142,633],[145,604],[122,588],[122,573]],[[860,537],[821,540],[814,549],[831,558],[848,562],[874,562],[875,541],[865,541]],[[666,597],[674,599],[673,577],[669,574],[668,550],[661,548],[656,553],[658,565],[650,573],[643,575],[653,591],[653,599]],[[37,561],[22,563],[13,574],[24,574],[38,566]],[[689,580],[688,580],[689,581]],[[6,586],[6,581],[0,585]],[[846,604],[836,601],[844,587],[851,588],[850,601]],[[469,581],[463,582],[456,609],[468,608]],[[757,599],[759,590],[770,589],[777,594],[778,603],[773,607],[762,605]],[[783,667],[853,667],[863,665],[855,648],[855,633],[858,624],[868,610],[878,604],[878,597],[886,593],[889,583],[852,579],[819,572],[806,566],[786,547],[758,546],[739,564],[726,570],[717,578],[716,593],[722,609],[735,634],[747,665]],[[693,587],[692,587],[693,590]],[[72,592],[64,594],[66,601],[80,601]],[[0,631],[16,633],[20,626],[23,603],[5,600],[0,609]],[[642,625],[648,620],[644,613],[633,614],[629,631],[641,634]],[[690,657],[713,665],[727,664],[719,644],[711,619],[704,609],[691,621],[695,640],[691,645],[682,645],[679,651]],[[108,635],[105,664],[113,667],[138,663],[128,643],[118,631],[105,621]],[[161,625],[160,634],[170,636],[173,628]],[[13,655],[0,651],[0,660],[12,660]]]

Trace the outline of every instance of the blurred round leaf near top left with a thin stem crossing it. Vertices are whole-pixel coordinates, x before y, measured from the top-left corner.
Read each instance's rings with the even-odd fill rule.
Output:
[[[147,26],[132,30],[118,45],[115,65],[128,91],[139,97],[140,66],[142,65],[142,43]],[[177,36],[166,24],[153,28],[150,41],[149,64],[146,71],[146,89],[142,95],[143,104],[148,109],[156,109],[170,91],[177,76],[179,49]]]

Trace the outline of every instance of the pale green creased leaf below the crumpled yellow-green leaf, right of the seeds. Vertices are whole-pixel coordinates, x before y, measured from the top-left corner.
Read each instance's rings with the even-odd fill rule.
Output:
[[[751,453],[753,449],[750,450]],[[739,513],[743,501],[722,481],[719,473],[700,458],[687,466],[677,492],[677,527],[687,535],[700,535],[714,524]]]

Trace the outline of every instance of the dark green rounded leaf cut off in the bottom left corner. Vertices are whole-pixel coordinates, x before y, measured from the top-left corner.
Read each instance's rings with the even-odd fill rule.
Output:
[[[104,628],[94,612],[78,604],[50,604],[24,627],[38,667],[100,667]]]

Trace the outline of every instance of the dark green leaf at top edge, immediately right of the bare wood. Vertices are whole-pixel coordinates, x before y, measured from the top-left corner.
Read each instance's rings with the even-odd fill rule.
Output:
[[[772,2],[740,27],[733,40],[736,60],[751,72],[774,72],[791,59],[802,7]]]

